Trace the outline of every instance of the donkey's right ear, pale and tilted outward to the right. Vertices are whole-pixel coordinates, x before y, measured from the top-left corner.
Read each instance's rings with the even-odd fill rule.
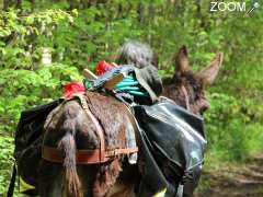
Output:
[[[218,53],[210,65],[198,72],[197,76],[202,79],[205,86],[211,85],[215,81],[222,62],[222,53]]]

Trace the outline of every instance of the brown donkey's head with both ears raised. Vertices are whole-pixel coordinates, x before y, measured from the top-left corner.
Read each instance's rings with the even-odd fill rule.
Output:
[[[199,72],[193,72],[188,66],[187,49],[181,47],[174,56],[175,73],[163,81],[163,94],[179,105],[195,113],[203,114],[209,108],[204,88],[213,84],[222,62],[222,54],[218,53],[214,60]]]

